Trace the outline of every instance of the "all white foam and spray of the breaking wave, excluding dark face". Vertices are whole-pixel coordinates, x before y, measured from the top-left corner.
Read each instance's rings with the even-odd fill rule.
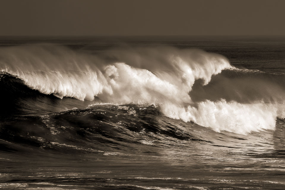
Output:
[[[221,55],[170,47],[107,53],[126,63],[107,63],[63,47],[35,45],[1,48],[0,56],[5,61],[0,63],[0,69],[17,75],[27,86],[44,94],[79,100],[97,96],[103,103],[117,105],[155,104],[170,118],[192,121],[217,132],[274,130],[276,118],[285,116],[283,104],[193,102],[189,91],[195,80],[203,79],[206,85],[222,70],[235,69]],[[127,113],[136,115],[129,108]]]

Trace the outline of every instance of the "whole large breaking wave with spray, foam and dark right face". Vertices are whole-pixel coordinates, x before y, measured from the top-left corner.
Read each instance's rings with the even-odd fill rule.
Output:
[[[0,69],[2,85],[10,76],[35,93],[57,98],[155,104],[167,117],[217,132],[274,130],[276,119],[285,117],[284,75],[238,69],[222,55],[202,50],[135,47],[91,55],[25,45],[1,48]],[[73,102],[67,103],[70,108]]]

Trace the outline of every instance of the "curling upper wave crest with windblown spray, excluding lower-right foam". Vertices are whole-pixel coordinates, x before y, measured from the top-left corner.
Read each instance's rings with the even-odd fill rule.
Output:
[[[136,102],[135,96],[140,95],[143,101],[152,99],[156,103],[161,99],[158,96],[167,94],[166,99],[173,101],[175,98],[170,96],[177,96],[181,91],[185,96],[181,98],[189,99],[187,92],[196,79],[203,79],[207,84],[212,75],[233,68],[226,58],[201,50],[157,47],[137,51],[142,53],[128,52],[132,60],[110,51],[109,56],[113,53],[117,60],[127,61],[110,64],[100,56],[79,54],[59,46],[8,47],[0,50],[5,58],[0,60],[0,66],[2,71],[17,75],[27,86],[44,94],[79,100],[93,100],[94,96],[103,94],[102,97],[107,95],[109,101],[114,102]],[[164,72],[160,71],[162,65]],[[114,95],[118,98],[112,97]]]

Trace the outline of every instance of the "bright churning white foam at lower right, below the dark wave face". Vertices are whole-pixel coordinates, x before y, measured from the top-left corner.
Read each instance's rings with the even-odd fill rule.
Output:
[[[276,118],[285,117],[284,110],[283,104],[241,104],[226,100],[207,100],[197,103],[196,107],[162,106],[162,112],[170,118],[192,121],[217,132],[225,130],[244,135],[264,129],[274,130]]]

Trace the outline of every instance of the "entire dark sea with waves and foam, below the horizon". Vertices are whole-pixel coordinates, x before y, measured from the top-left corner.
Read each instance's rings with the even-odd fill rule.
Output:
[[[0,189],[285,189],[285,37],[0,37]]]

